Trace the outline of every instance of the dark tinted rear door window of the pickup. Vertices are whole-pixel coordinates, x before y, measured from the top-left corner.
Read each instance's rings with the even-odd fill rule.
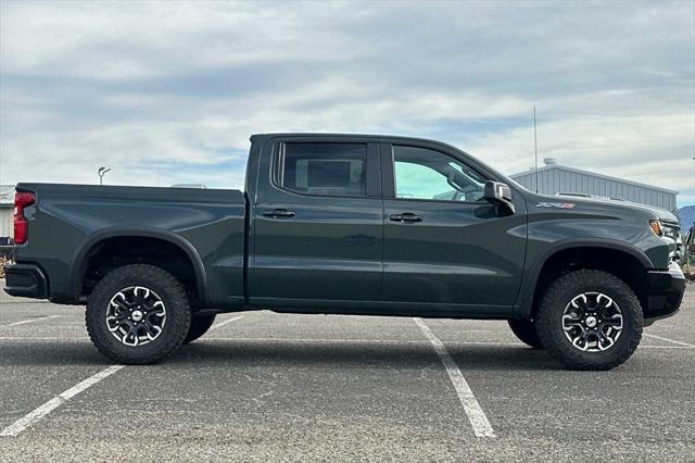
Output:
[[[315,196],[365,196],[367,145],[293,143],[280,146],[278,186]]]

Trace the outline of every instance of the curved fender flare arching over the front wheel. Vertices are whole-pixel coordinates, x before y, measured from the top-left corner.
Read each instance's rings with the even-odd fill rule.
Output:
[[[654,264],[647,254],[645,254],[641,249],[624,241],[607,238],[566,239],[557,241],[543,250],[542,254],[531,263],[531,266],[525,272],[523,280],[527,283],[522,284],[517,298],[520,318],[527,320],[531,315],[533,310],[533,296],[539,283],[539,276],[541,275],[541,270],[548,259],[560,251],[581,248],[604,248],[612,251],[624,252],[626,254],[635,258],[644,266],[645,271],[654,267]]]

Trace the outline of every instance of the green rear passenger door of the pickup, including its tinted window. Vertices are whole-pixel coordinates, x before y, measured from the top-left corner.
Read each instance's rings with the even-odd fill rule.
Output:
[[[258,172],[249,253],[252,303],[378,300],[383,239],[378,140],[271,139]]]

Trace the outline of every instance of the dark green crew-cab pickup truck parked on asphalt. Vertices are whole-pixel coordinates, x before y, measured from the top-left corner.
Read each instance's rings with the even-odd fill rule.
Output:
[[[125,364],[271,310],[506,320],[566,367],[608,370],[681,304],[673,218],[536,195],[438,141],[264,134],[243,191],[17,185],[5,291],[85,304]]]

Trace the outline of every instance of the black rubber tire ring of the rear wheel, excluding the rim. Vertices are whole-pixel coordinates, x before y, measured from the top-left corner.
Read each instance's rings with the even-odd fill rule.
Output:
[[[142,346],[126,346],[106,327],[106,306],[111,298],[128,286],[155,291],[166,306],[162,333]],[[184,285],[168,272],[153,265],[125,265],[106,274],[87,300],[87,331],[97,349],[111,360],[128,364],[152,364],[176,350],[189,333],[191,309]]]

